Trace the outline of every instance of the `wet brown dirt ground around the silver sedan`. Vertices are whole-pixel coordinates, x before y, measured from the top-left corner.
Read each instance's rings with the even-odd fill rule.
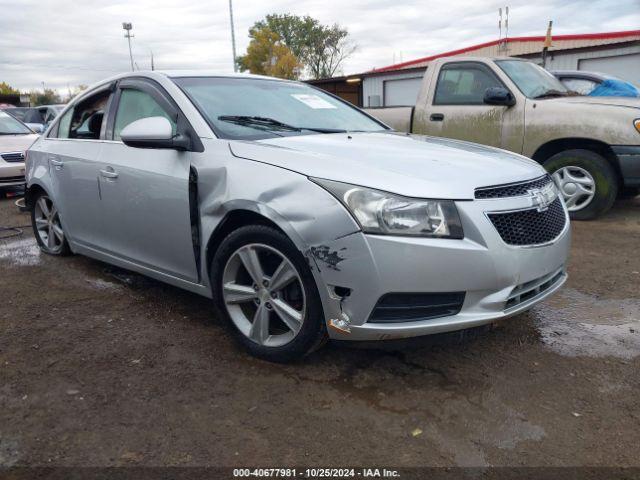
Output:
[[[640,466],[640,198],[574,223],[570,280],[526,314],[294,365],[30,229],[0,272],[0,466]]]

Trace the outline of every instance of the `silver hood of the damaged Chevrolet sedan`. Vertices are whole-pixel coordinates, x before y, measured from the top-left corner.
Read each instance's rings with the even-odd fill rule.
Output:
[[[303,175],[421,198],[472,199],[474,189],[544,174],[533,160],[474,143],[398,133],[231,141],[241,158]]]

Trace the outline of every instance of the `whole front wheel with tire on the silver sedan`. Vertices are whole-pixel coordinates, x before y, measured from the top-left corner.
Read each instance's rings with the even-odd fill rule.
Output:
[[[327,336],[311,270],[274,228],[250,225],[229,234],[214,256],[211,285],[237,338],[256,357],[289,362]]]

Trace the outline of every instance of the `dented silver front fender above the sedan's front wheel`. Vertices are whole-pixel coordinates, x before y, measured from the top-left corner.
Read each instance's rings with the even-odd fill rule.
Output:
[[[327,281],[336,285],[344,283],[338,281],[341,266],[357,257],[349,251],[355,248],[347,240],[360,230],[351,214],[304,175],[235,157],[227,142],[203,141],[208,155],[197,157],[192,163],[198,178],[200,258],[207,258],[209,240],[231,212],[245,210],[259,214],[285,232],[307,259],[325,307],[325,317],[339,312],[340,299],[332,295]],[[211,288],[206,263],[202,262],[201,278]],[[335,310],[328,308],[329,305]]]

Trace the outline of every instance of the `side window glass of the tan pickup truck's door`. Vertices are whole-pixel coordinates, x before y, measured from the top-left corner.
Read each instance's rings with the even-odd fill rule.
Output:
[[[498,79],[478,65],[444,67],[438,75],[434,105],[482,105],[484,92],[501,87]]]

